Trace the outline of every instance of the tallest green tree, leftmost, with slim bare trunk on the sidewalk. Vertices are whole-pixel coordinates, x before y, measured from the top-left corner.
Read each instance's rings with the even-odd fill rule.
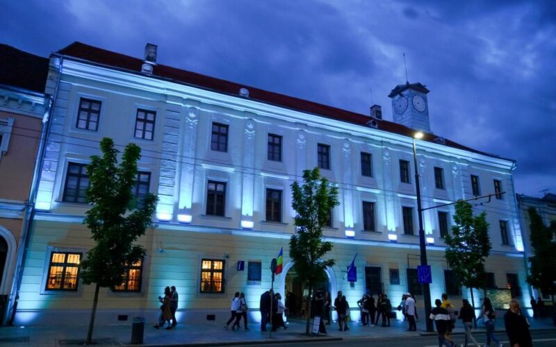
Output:
[[[87,259],[81,262],[83,283],[96,284],[86,344],[92,342],[99,288],[121,285],[126,266],[145,255],[145,249],[133,243],[151,225],[157,200],[153,194],[147,194],[138,202],[131,192],[136,185],[139,146],[128,144],[120,165],[117,165],[119,151],[112,139],[102,139],[100,149],[102,156],[93,155],[87,167],[90,182],[87,199],[92,208],[83,221],[95,241]]]

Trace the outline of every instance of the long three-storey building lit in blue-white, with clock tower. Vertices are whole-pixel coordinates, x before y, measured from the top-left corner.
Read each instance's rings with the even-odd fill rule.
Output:
[[[394,306],[410,291],[422,310],[416,130],[427,132],[416,140],[423,208],[500,193],[476,207],[491,225],[489,286],[510,285],[529,302],[520,290],[525,263],[515,162],[431,133],[429,90],[420,83],[391,91],[392,122],[377,105],[361,115],[161,65],[156,46],[147,45],[142,60],[75,42],[51,56],[45,92],[54,96],[54,108],[17,323],[88,321],[94,287],[79,281],[79,263],[92,246],[82,224],[85,165],[100,153],[102,137],[141,146],[135,193],[159,198],[154,226],[139,241],[146,257],[130,266],[122,286],[101,290],[97,319],[104,323],[140,315],[154,321],[156,298],[170,285],[180,294],[182,321],[224,321],[236,291],[245,292],[258,319],[270,260],[281,247],[284,272],[275,289],[292,291],[300,303],[302,285],[288,257],[290,185],[313,167],[338,186],[341,202],[325,229],[336,265],[322,286],[333,297],[342,290],[351,307],[365,291],[384,291]],[[452,214],[446,207],[423,217],[432,298],[448,292],[457,301],[469,291],[453,285],[443,257]],[[348,282],[345,271],[356,253],[357,282]],[[359,319],[358,310],[352,318]]]

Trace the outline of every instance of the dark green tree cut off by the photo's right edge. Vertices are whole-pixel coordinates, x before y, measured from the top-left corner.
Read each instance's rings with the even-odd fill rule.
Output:
[[[529,220],[531,230],[532,255],[530,275],[527,282],[543,294],[556,294],[556,221],[551,221],[550,226],[545,226],[541,215],[534,208],[530,208]]]

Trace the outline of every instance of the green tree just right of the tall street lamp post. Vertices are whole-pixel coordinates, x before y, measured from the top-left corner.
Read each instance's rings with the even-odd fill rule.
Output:
[[[448,246],[445,257],[459,284],[471,289],[471,305],[475,307],[473,288],[486,287],[484,262],[492,248],[489,223],[486,223],[485,212],[473,216],[473,207],[466,201],[458,201],[455,210],[455,226],[444,237],[444,243]]]

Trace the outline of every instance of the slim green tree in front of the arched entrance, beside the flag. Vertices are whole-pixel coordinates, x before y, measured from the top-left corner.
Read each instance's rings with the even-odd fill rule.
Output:
[[[311,312],[311,294],[313,286],[326,278],[327,266],[334,266],[333,259],[322,257],[332,250],[332,242],[322,239],[322,226],[327,224],[329,213],[338,205],[338,188],[320,177],[318,167],[303,171],[303,184],[291,185],[292,208],[295,210],[296,233],[290,239],[290,257],[294,269],[302,282],[309,286],[309,307]],[[310,332],[310,315],[307,317],[306,334]]]

